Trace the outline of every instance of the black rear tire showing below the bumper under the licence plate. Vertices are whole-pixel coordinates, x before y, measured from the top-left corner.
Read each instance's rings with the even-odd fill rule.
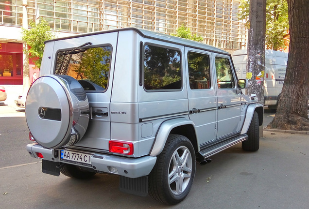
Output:
[[[60,168],[60,172],[74,179],[90,179],[96,174],[95,172],[90,172],[71,164],[64,164],[64,166]]]

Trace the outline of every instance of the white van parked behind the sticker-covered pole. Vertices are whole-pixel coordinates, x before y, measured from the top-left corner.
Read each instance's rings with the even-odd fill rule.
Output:
[[[235,51],[233,61],[238,78],[246,78],[247,49]],[[264,105],[268,105],[270,109],[276,109],[277,107],[278,96],[281,93],[285,78],[287,61],[288,53],[265,50]]]

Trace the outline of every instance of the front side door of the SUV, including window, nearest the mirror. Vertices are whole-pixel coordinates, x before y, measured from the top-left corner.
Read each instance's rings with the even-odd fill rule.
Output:
[[[240,93],[238,94],[237,79],[229,56],[215,54],[217,76],[217,138],[236,134],[240,129]]]

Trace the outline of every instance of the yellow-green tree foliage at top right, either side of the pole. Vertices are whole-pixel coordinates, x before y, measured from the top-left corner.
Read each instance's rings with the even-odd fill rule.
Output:
[[[246,20],[249,28],[249,0],[240,1],[239,19]],[[288,3],[287,0],[266,1],[266,40],[267,49],[278,50],[286,48],[284,37],[289,34]]]

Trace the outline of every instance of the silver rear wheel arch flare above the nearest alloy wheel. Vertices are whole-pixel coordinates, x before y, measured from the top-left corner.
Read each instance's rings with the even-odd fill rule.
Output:
[[[177,118],[166,120],[160,125],[150,155],[157,156],[162,152],[169,134],[180,134],[186,136],[191,141],[195,152],[199,151],[195,124],[189,119]]]

